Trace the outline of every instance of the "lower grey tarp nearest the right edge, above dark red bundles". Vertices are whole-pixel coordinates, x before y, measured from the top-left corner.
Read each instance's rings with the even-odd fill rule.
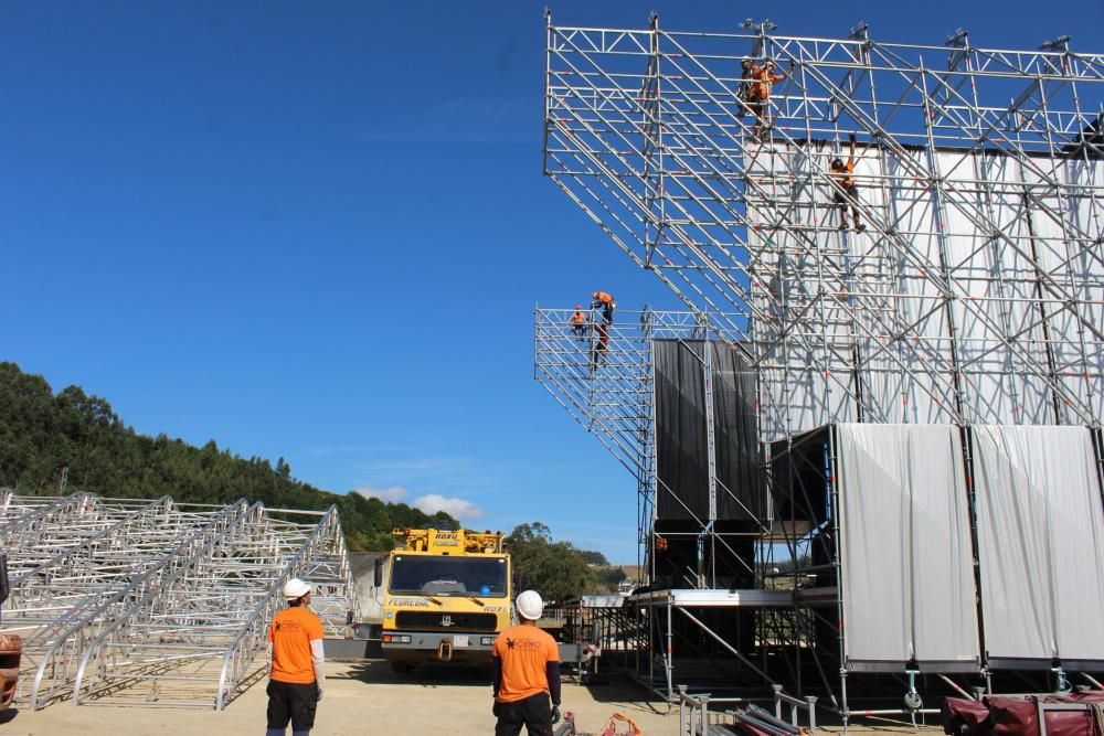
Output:
[[[994,659],[1104,660],[1104,506],[1084,427],[972,428]]]

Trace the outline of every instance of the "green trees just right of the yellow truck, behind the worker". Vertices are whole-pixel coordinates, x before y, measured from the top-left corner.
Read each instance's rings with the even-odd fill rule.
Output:
[[[611,565],[601,552],[554,542],[551,530],[540,522],[517,526],[506,544],[513,559],[514,590],[532,588],[544,600],[612,593],[625,579],[625,570]]]

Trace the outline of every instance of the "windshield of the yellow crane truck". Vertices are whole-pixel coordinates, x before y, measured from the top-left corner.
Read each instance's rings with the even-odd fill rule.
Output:
[[[433,596],[505,598],[505,557],[414,557],[395,555],[391,563],[391,593]]]

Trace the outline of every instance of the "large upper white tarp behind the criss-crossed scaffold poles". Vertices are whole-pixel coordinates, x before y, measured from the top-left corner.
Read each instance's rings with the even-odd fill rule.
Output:
[[[867,230],[843,233],[825,175],[840,152],[745,156],[763,436],[952,424],[958,401],[968,424],[1104,417],[1104,163],[860,147]]]

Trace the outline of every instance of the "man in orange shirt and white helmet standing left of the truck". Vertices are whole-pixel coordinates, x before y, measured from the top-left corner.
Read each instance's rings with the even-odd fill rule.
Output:
[[[322,622],[307,610],[310,584],[291,578],[284,584],[284,599],[287,609],[268,627],[273,659],[266,736],[284,736],[289,721],[291,736],[310,732],[326,681]]]

